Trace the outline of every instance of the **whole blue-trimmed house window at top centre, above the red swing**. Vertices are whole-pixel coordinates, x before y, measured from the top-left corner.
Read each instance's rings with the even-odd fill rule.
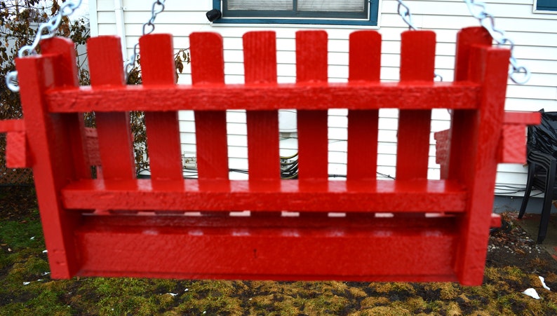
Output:
[[[215,23],[377,25],[379,0],[213,0]]]

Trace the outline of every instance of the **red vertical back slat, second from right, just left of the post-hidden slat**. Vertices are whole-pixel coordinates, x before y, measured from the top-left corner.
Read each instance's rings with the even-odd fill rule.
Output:
[[[407,31],[401,42],[401,84],[432,82],[435,33]],[[398,114],[397,179],[427,179],[431,110],[401,110]]]

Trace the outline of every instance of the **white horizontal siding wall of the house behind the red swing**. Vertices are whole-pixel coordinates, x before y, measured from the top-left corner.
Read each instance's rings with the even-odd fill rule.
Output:
[[[90,4],[93,34],[118,34],[116,27],[114,0],[96,0]],[[509,81],[505,107],[509,111],[557,111],[557,14],[532,13],[533,0],[490,0],[485,1],[487,9],[495,15],[496,26],[504,29],[513,39],[518,60],[532,71],[532,78],[525,85]],[[414,24],[418,29],[431,29],[437,34],[436,73],[445,81],[452,81],[455,63],[455,39],[462,27],[476,26],[478,20],[472,18],[462,0],[412,0],[410,6]],[[243,82],[243,55],[241,36],[248,31],[271,29],[277,36],[278,81],[295,81],[295,32],[298,29],[323,29],[329,34],[329,77],[330,81],[347,81],[348,37],[356,29],[377,29],[383,38],[382,81],[398,80],[400,34],[408,29],[397,14],[395,0],[380,1],[379,27],[330,27],[320,25],[211,25],[205,17],[212,8],[212,0],[166,1],[166,8],[156,18],[155,32],[174,35],[175,49],[189,47],[188,34],[192,32],[218,32],[224,37],[225,81]],[[151,16],[150,1],[123,0],[123,29],[126,33],[126,48],[131,54],[133,45],[142,34],[142,24]],[[191,83],[190,68],[184,67],[179,83]],[[347,112],[331,110],[329,118],[329,172],[345,174],[347,151]],[[396,176],[396,110],[380,111],[380,144],[377,171]],[[295,114],[290,111],[280,113],[281,155],[295,153],[297,139]],[[431,123],[432,132],[448,128],[448,112],[436,110]],[[246,169],[247,139],[246,116],[241,111],[229,111],[229,156],[230,167]],[[194,155],[195,137],[193,114],[180,113],[182,151]],[[435,164],[435,149],[431,137],[429,178],[439,177]],[[509,194],[514,188],[525,186],[525,167],[522,165],[499,165],[497,173],[497,193]],[[245,177],[231,174],[231,177]],[[522,193],[518,193],[521,195]]]

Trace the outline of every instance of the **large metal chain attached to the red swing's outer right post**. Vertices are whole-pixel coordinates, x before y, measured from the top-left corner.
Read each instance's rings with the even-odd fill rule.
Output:
[[[511,58],[509,59],[509,63],[511,64],[512,69],[509,71],[509,78],[511,78],[514,83],[518,83],[519,85],[523,85],[528,82],[528,80],[530,80],[530,70],[521,64],[518,64],[516,57],[514,57],[514,41],[506,37],[504,30],[497,29],[495,27],[495,17],[485,11],[485,4],[481,1],[475,0],[464,0],[464,2],[466,2],[466,5],[468,6],[470,14],[480,21],[481,26],[488,30],[498,46],[510,46],[509,49],[511,50]]]

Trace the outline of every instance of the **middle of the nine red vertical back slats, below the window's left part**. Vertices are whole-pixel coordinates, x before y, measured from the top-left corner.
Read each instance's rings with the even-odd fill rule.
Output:
[[[274,32],[248,32],[243,36],[246,83],[276,83]],[[278,152],[278,112],[246,110],[249,179],[281,178]]]

